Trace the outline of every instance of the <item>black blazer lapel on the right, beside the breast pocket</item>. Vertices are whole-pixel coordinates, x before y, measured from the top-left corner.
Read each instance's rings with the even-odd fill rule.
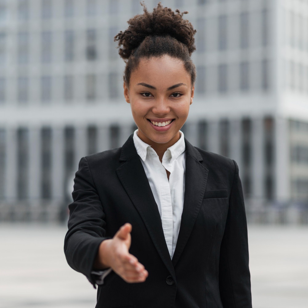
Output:
[[[198,150],[195,149],[186,139],[185,146],[186,169],[184,207],[176,249],[172,257],[172,264],[174,267],[184,250],[195,224],[203,200],[209,174],[209,170],[200,163],[200,161],[203,161],[203,158]]]

